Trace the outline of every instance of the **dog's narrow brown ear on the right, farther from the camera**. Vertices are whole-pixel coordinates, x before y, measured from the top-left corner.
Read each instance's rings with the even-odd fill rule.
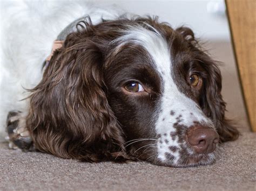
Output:
[[[212,119],[221,142],[237,139],[239,136],[237,128],[225,118],[226,103],[221,96],[221,73],[217,62],[213,61],[204,51],[201,51],[191,29],[180,27],[177,31],[187,41],[196,55],[196,59],[200,61],[201,66],[207,72],[207,77],[204,79],[203,96],[200,99],[201,108],[205,115]]]

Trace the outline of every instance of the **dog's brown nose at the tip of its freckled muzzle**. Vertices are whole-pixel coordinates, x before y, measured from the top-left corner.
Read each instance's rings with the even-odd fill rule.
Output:
[[[219,142],[218,133],[201,125],[192,126],[187,131],[187,142],[197,153],[211,153]]]

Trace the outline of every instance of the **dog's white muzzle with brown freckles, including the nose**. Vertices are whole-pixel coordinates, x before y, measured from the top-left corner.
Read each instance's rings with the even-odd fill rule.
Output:
[[[156,126],[160,135],[159,160],[170,166],[182,166],[184,163],[194,166],[203,161],[210,164],[214,160],[212,153],[219,142],[211,120],[204,115],[197,103],[187,97],[179,98],[185,100],[186,104],[180,104],[176,99],[170,100],[171,98],[165,106],[171,109],[160,112]]]

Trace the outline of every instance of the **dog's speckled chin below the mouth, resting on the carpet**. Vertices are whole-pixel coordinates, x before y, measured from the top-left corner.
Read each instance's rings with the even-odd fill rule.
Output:
[[[190,157],[178,159],[177,161],[171,161],[171,160],[161,161],[157,159],[150,162],[158,166],[184,168],[184,167],[212,165],[215,163],[216,159],[217,159],[217,152],[214,151],[208,154],[192,154],[190,155]]]

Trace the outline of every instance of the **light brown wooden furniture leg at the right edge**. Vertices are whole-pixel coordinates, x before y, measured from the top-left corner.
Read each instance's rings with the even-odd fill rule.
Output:
[[[226,0],[226,5],[247,114],[256,132],[256,0]]]

